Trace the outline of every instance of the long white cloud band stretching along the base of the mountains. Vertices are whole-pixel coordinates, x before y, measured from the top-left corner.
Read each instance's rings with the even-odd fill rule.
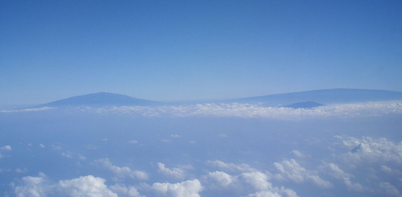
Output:
[[[195,104],[181,106],[122,106],[114,108],[82,108],[95,113],[125,113],[150,117],[262,117],[270,119],[304,119],[312,117],[367,117],[386,114],[402,114],[402,101],[337,104],[312,109],[263,107],[257,104]]]

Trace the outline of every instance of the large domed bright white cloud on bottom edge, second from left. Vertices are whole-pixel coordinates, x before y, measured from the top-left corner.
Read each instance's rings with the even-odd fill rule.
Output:
[[[105,181],[92,175],[80,176],[71,180],[60,180],[56,188],[67,196],[117,197],[117,194],[105,185]]]

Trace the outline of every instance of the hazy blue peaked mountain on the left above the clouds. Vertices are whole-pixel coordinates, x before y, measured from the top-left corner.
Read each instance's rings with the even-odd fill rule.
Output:
[[[84,94],[68,99],[62,99],[39,107],[67,107],[67,106],[156,106],[162,102],[136,99],[134,97],[108,92]]]

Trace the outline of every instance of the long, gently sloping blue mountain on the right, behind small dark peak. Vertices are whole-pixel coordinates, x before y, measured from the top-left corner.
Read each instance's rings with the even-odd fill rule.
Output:
[[[223,103],[261,103],[268,106],[286,106],[305,101],[315,101],[322,104],[336,104],[392,100],[402,100],[402,92],[337,88],[246,97],[242,99],[223,101]]]

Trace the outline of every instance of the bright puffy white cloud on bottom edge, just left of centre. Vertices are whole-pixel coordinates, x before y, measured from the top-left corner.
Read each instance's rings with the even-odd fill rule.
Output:
[[[169,197],[199,197],[204,189],[198,179],[186,180],[178,183],[153,183],[151,189],[157,196]]]

